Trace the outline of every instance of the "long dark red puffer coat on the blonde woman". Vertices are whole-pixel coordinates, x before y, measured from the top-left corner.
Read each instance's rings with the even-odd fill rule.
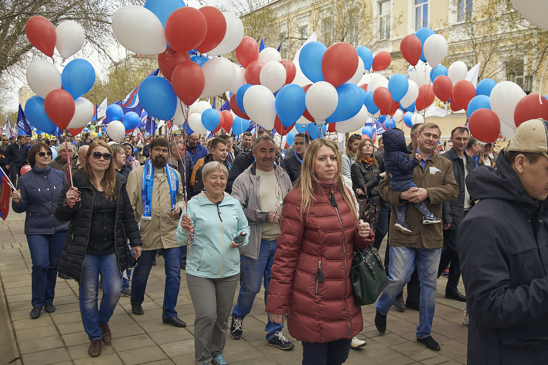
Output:
[[[364,249],[374,233],[358,236],[357,222],[336,186],[321,184],[320,195],[313,189],[310,215],[301,215],[300,188],[284,198],[266,311],[288,313],[289,333],[300,341],[350,339],[363,329],[350,285],[353,243]],[[332,207],[331,189],[338,207]]]

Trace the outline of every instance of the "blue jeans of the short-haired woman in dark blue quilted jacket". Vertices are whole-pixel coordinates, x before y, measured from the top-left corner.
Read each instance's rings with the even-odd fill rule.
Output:
[[[32,259],[32,306],[43,307],[53,303],[57,264],[67,230],[53,235],[27,235]]]

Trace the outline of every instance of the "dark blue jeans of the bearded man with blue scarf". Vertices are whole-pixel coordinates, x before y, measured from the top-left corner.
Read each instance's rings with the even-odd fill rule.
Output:
[[[145,300],[146,282],[149,280],[152,261],[156,250],[142,250],[139,264],[133,269],[132,304],[142,304]],[[165,288],[162,318],[177,316],[175,306],[181,286],[181,249],[180,247],[162,248],[165,269]]]

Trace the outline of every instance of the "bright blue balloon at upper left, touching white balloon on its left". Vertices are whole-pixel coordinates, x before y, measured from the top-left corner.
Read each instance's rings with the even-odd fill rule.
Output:
[[[95,83],[95,69],[89,61],[72,60],[61,74],[61,83],[63,89],[76,100],[92,89]]]

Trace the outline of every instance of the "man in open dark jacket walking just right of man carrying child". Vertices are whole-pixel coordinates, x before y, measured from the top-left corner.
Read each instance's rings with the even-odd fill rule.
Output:
[[[458,301],[466,301],[466,296],[459,293],[456,288],[460,277],[459,256],[456,252],[456,230],[473,205],[466,189],[465,179],[466,175],[476,168],[476,162],[465,151],[469,145],[469,138],[470,131],[467,128],[456,127],[451,131],[450,141],[453,142],[453,148],[441,155],[453,163],[453,174],[456,184],[459,185],[459,196],[454,201],[443,204],[443,249],[439,259],[438,277],[451,263],[446,298]]]

